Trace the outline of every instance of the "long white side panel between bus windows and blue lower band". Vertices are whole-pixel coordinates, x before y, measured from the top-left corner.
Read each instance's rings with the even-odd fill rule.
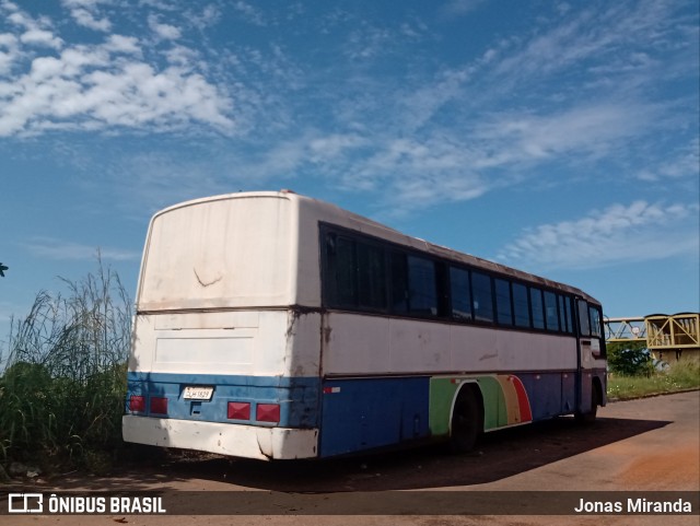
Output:
[[[570,336],[335,312],[325,314],[324,327],[325,374],[576,369]]]

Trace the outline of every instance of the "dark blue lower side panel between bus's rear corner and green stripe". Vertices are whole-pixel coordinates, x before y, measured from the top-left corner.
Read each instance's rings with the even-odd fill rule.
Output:
[[[427,437],[429,384],[428,377],[325,381],[320,456]]]

